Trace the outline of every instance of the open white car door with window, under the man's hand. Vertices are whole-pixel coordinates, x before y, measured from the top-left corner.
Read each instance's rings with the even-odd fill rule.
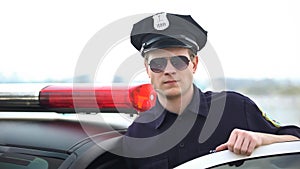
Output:
[[[229,150],[216,152],[188,161],[176,169],[298,169],[299,167],[300,141],[291,141],[258,147],[250,156],[237,155]]]

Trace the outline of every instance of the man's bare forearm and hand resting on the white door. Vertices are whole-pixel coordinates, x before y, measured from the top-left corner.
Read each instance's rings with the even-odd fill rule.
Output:
[[[292,135],[275,135],[234,129],[231,132],[228,141],[218,146],[216,151],[228,149],[236,154],[251,155],[256,147],[294,140],[300,139]]]

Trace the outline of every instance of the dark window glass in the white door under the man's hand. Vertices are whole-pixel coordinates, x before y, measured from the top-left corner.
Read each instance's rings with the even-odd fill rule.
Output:
[[[266,156],[254,159],[245,159],[234,162],[229,162],[219,166],[211,167],[211,169],[298,169],[300,166],[300,153],[284,154],[277,156]]]

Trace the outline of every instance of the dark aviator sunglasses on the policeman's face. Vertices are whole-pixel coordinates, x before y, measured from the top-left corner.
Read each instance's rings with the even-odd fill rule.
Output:
[[[168,59],[170,59],[172,66],[180,71],[186,69],[190,62],[190,60],[186,56],[155,58],[149,62],[150,69],[154,73],[163,72],[167,67]]]

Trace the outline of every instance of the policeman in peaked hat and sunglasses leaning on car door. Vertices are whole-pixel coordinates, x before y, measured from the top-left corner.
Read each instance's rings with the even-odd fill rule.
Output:
[[[133,25],[131,43],[144,57],[157,102],[124,137],[129,168],[173,168],[212,151],[250,155],[261,145],[299,140],[297,126],[273,123],[248,97],[203,93],[193,84],[206,41],[189,15],[158,13]]]

